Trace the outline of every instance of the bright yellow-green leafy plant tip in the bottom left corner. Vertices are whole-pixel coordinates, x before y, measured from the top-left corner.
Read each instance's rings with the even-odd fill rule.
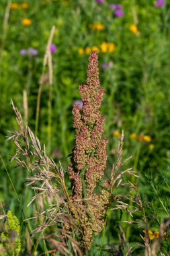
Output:
[[[7,212],[7,220],[4,224],[4,232],[0,237],[0,255],[17,256],[21,251],[20,225],[16,216],[11,211]]]

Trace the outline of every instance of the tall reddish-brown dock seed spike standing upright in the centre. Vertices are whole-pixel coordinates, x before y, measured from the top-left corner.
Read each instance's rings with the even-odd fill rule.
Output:
[[[86,84],[79,86],[83,108],[73,106],[73,126],[76,130],[75,148],[73,148],[72,166],[69,166],[70,178],[73,181],[73,199],[92,199],[97,205],[85,203],[89,214],[80,216],[84,236],[81,241],[83,248],[89,249],[93,233],[103,228],[105,205],[109,193],[105,189],[101,194],[93,193],[106,167],[107,139],[102,138],[103,121],[99,112],[104,90],[99,85],[98,57],[93,51],[89,57]]]

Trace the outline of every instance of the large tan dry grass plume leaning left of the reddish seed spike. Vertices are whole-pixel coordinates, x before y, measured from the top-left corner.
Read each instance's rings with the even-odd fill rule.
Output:
[[[61,228],[69,226],[75,232],[81,232],[75,218],[73,218],[73,214],[76,216],[76,208],[69,197],[62,168],[58,168],[52,158],[46,156],[45,146],[42,148],[38,137],[34,136],[28,125],[24,125],[22,116],[12,101],[11,105],[19,125],[19,131],[11,132],[12,135],[7,138],[7,140],[12,139],[17,146],[16,154],[11,160],[15,159],[18,166],[28,170],[30,177],[26,178],[26,182],[37,191],[28,206],[40,196],[44,200],[49,197],[52,199],[51,205],[40,212],[40,217],[43,218],[44,222],[33,231],[33,234],[42,232],[49,226],[56,225],[56,223]],[[38,218],[38,214],[34,218]],[[58,228],[57,232],[62,234],[63,231],[61,232],[61,229]],[[66,238],[68,237],[66,236]],[[52,243],[54,244],[54,241]],[[58,245],[64,249],[65,245],[62,245],[62,243],[64,242],[60,242]],[[77,242],[75,241],[75,243]],[[77,251],[77,247],[75,246],[73,250]],[[67,251],[67,248],[64,251]],[[81,255],[80,252],[79,249],[77,255]]]

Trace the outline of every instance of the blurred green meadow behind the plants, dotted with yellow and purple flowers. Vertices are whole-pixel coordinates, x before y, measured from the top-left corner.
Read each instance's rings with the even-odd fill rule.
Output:
[[[160,173],[169,179],[170,2],[157,6],[153,0],[1,0],[0,19],[0,153],[26,216],[32,216],[32,207],[26,208],[32,191],[23,183],[26,172],[9,162],[15,146],[5,142],[8,131],[17,129],[10,100],[35,131],[38,88],[43,79],[38,137],[46,144],[47,154],[56,162],[60,160],[66,169],[70,162],[65,156],[71,153],[75,138],[71,110],[75,101],[81,100],[79,85],[85,83],[89,53],[94,49],[99,55],[99,78],[105,89],[101,113],[109,141],[107,173],[123,129],[124,158],[132,155],[129,166],[141,177],[141,195],[147,194],[152,202],[146,176],[148,183],[153,179],[156,186]],[[52,26],[56,29],[50,85],[48,67],[42,77],[42,65]],[[22,220],[3,162],[0,199],[5,209]],[[169,188],[165,189],[165,197],[168,193]],[[157,200],[155,205],[161,207]],[[165,215],[163,211],[157,214],[155,227]],[[147,216],[151,218],[151,213],[147,212]],[[115,219],[111,214],[109,241],[114,241]],[[134,228],[132,242],[141,242],[139,233],[142,228],[140,232]]]

